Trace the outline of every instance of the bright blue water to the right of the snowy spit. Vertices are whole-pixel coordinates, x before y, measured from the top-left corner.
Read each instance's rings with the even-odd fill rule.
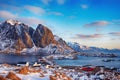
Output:
[[[112,59],[111,62],[103,62],[104,59]],[[105,57],[86,57],[78,56],[77,60],[55,60],[55,62],[61,66],[84,66],[84,65],[94,65],[94,66],[106,66],[108,68],[115,67],[120,68],[120,58],[105,58]]]

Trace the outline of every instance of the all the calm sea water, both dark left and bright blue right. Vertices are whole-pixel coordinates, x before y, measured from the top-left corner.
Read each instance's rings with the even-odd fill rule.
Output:
[[[17,56],[0,54],[0,63],[15,64],[18,62],[35,62],[40,56]],[[104,59],[113,59],[115,61],[103,62]],[[105,58],[105,57],[86,57],[78,56],[77,60],[54,60],[55,63],[61,66],[83,66],[83,65],[94,65],[94,66],[106,66],[120,68],[120,58]]]

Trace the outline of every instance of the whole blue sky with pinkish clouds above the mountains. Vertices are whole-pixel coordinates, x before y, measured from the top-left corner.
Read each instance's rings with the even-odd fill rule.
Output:
[[[66,41],[120,49],[120,0],[0,0],[0,21],[39,23]]]

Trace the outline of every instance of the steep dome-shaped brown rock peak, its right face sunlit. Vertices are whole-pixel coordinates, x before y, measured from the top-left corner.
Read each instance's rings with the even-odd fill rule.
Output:
[[[50,29],[39,24],[33,34],[33,41],[37,47],[46,47],[49,44],[57,44]]]

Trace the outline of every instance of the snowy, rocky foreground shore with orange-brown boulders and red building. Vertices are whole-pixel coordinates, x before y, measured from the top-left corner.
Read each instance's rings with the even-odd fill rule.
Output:
[[[0,80],[120,80],[120,72],[114,68],[91,65],[59,66],[51,61],[45,59],[44,61],[47,64],[26,63],[23,66],[0,64]]]

